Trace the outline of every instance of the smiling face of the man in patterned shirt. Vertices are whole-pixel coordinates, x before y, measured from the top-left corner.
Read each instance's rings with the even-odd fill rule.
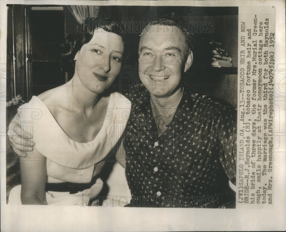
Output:
[[[146,27],[139,43],[139,76],[151,95],[165,97],[176,91],[185,58],[185,38],[178,27]]]

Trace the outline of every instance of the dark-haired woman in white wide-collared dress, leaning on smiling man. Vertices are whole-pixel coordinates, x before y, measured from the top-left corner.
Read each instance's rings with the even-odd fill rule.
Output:
[[[63,58],[75,60],[73,78],[19,108],[14,120],[32,122],[26,128],[35,147],[20,158],[21,186],[9,203],[20,189],[21,203],[29,205],[88,205],[101,191],[102,159],[120,139],[131,106],[107,91],[121,69],[121,31],[110,19],[87,19],[61,46]]]

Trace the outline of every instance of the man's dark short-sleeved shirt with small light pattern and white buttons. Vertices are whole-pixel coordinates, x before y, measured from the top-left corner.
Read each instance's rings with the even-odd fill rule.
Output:
[[[129,206],[234,203],[229,180],[235,184],[237,114],[229,103],[184,87],[172,121],[159,135],[146,88],[135,86],[126,97],[132,102],[124,138]]]

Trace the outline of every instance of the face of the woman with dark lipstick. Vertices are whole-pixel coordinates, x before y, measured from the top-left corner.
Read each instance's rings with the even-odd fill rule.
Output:
[[[103,93],[120,72],[123,49],[119,35],[102,28],[95,30],[74,58],[82,84],[93,93]]]

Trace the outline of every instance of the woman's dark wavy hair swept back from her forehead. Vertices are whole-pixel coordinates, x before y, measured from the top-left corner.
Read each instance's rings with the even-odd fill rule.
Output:
[[[74,57],[76,56],[76,53],[84,44],[90,42],[94,35],[94,31],[98,28],[121,36],[122,41],[125,44],[126,37],[124,36],[124,31],[126,29],[123,26],[124,25],[119,25],[117,21],[110,18],[87,18],[84,23],[77,28],[76,34],[68,34],[60,45],[60,59],[63,70],[67,72],[74,71]],[[125,50],[126,49],[124,48],[124,51]],[[124,52],[122,60],[125,60],[126,57],[126,52]]]

